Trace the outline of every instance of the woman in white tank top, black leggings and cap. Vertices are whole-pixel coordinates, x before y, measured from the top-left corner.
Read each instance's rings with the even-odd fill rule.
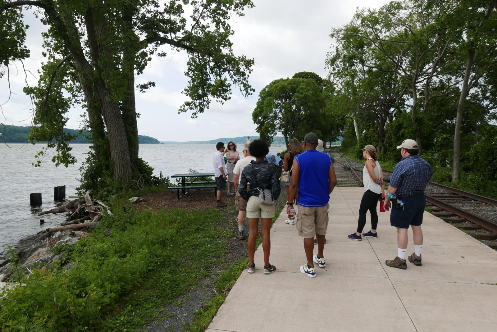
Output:
[[[377,238],[376,227],[378,226],[378,213],[376,207],[378,199],[385,197],[385,185],[383,182],[383,170],[378,163],[378,154],[376,148],[372,145],[366,145],[362,149],[362,157],[366,160],[366,165],[362,170],[362,181],[364,183],[364,195],[362,195],[361,205],[359,207],[359,218],[357,220],[357,230],[348,236],[350,240],[362,240],[362,236],[368,238]],[[366,213],[371,214],[371,230],[367,233],[361,233],[366,225]]]

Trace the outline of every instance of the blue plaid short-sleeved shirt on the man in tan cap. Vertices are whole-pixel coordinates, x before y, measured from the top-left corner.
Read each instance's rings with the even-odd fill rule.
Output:
[[[397,188],[397,195],[410,196],[424,191],[433,175],[431,165],[419,156],[408,156],[394,168],[390,185]]]

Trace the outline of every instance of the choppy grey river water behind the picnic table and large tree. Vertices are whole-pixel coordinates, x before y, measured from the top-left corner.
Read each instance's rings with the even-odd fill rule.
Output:
[[[65,221],[65,214],[47,214],[41,217],[40,211],[52,209],[54,204],[54,187],[66,186],[66,198],[76,193],[80,185],[80,166],[86,159],[88,144],[73,144],[72,153],[78,163],[69,167],[51,162],[55,154],[48,150],[41,167],[34,167],[35,154],[43,145],[0,144],[0,253],[6,245],[48,227],[58,226]],[[10,147],[10,148],[9,148]],[[154,174],[162,171],[164,176],[185,173],[188,169],[199,172],[213,172],[212,154],[214,145],[208,144],[141,144],[140,157],[154,167]],[[240,149],[239,147],[239,150]],[[285,150],[284,146],[271,146],[269,151],[277,153]],[[243,158],[241,155],[240,158]],[[42,193],[42,205],[32,208],[29,194]],[[40,225],[40,219],[45,223]]]

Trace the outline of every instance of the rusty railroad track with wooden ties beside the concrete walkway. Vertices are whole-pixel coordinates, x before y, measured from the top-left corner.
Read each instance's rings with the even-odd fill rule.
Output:
[[[337,150],[327,152],[338,154],[340,163],[345,160],[346,165],[356,171],[362,182],[364,164],[342,155]],[[387,169],[383,169],[383,172],[392,173]],[[385,174],[385,177],[387,176]],[[466,230],[469,235],[497,249],[497,200],[431,181],[425,190],[425,195],[426,207],[431,214]]]

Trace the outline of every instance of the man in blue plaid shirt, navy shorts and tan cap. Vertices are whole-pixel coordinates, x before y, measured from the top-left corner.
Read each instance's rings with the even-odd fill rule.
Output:
[[[424,189],[433,175],[433,169],[427,161],[417,155],[419,149],[416,141],[405,140],[397,149],[401,149],[402,160],[395,166],[390,178],[384,207],[386,211],[392,208],[390,225],[397,227],[398,254],[397,257],[385,263],[391,267],[406,269],[409,226],[413,229],[414,237],[414,253],[409,256],[409,261],[421,266],[423,246],[421,224],[426,205]]]

